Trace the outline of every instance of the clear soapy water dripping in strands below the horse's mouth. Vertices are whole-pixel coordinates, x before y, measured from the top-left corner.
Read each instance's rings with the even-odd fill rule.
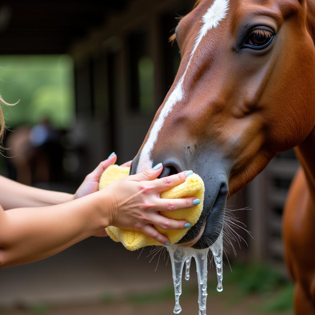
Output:
[[[180,245],[171,245],[167,247],[169,256],[172,263],[173,272],[173,283],[175,290],[175,307],[174,313],[179,314],[181,312],[181,306],[179,304],[179,298],[182,293],[181,291],[181,279],[183,273],[184,263],[186,264],[185,279],[189,280],[190,264],[192,257],[195,258],[197,266],[197,278],[198,278],[198,304],[199,304],[199,315],[206,315],[206,303],[207,303],[207,266],[208,266],[208,252],[211,249],[213,258],[215,261],[216,273],[218,278],[217,290],[221,292],[223,269],[222,269],[222,258],[223,258],[223,231],[221,231],[219,237],[206,249],[194,249],[191,247],[183,247]]]

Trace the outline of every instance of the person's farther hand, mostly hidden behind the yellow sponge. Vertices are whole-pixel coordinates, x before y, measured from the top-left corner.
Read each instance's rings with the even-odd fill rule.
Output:
[[[113,152],[105,161],[100,162],[96,169],[85,177],[83,183],[80,185],[76,193],[73,195],[73,199],[81,198],[93,192],[97,192],[99,187],[100,176],[109,165],[115,164],[116,160],[117,155]],[[130,164],[131,161],[128,161],[126,163],[123,163],[121,166],[130,166]]]

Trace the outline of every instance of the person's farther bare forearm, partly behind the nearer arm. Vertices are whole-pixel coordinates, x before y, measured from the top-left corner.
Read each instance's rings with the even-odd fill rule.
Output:
[[[65,203],[73,195],[34,188],[0,176],[0,204],[4,210],[12,208],[45,207]]]

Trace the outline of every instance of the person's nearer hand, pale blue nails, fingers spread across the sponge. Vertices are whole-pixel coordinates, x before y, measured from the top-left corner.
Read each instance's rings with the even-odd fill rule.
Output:
[[[140,230],[165,245],[169,245],[169,239],[158,232],[152,224],[172,230],[190,227],[188,221],[166,218],[160,215],[159,211],[186,209],[200,203],[200,200],[194,197],[160,198],[161,192],[183,183],[192,171],[154,180],[162,170],[163,166],[160,163],[142,173],[127,176],[102,190],[111,202],[109,225]]]

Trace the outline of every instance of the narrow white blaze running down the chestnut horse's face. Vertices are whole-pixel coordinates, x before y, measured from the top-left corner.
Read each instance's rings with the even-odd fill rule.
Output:
[[[185,95],[183,83],[187,70],[192,61],[192,57],[199,43],[201,42],[202,38],[207,34],[207,32],[212,28],[216,28],[219,25],[219,22],[226,17],[228,4],[229,0],[215,0],[215,2],[212,3],[211,7],[207,10],[207,12],[203,14],[203,17],[200,21],[200,23],[202,23],[202,26],[200,31],[198,32],[198,37],[196,38],[186,69],[181,78],[179,79],[179,81],[177,82],[172,93],[169,95],[168,99],[164,103],[164,106],[160,112],[159,117],[152,126],[149,137],[140,153],[137,173],[140,173],[145,169],[150,169],[153,166],[151,160],[151,153],[157,141],[158,133],[162,129],[165,118],[172,111],[174,105],[178,103],[180,100],[182,100]]]

